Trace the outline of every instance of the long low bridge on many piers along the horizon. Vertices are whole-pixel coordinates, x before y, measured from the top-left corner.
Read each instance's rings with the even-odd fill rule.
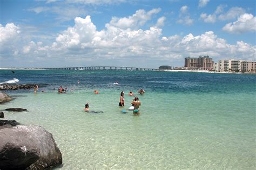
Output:
[[[32,69],[32,68],[30,68]],[[125,70],[125,71],[163,71],[165,69],[147,69],[140,67],[124,67],[124,66],[86,66],[86,67],[48,67],[48,68],[33,68],[44,70]]]

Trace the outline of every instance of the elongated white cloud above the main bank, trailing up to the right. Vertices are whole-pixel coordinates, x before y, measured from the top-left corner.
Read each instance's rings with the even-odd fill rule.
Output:
[[[147,21],[151,19],[153,14],[160,12],[161,9],[152,9],[149,12],[145,10],[137,10],[132,16],[128,18],[117,18],[112,17],[110,25],[120,29],[137,29],[140,26],[143,26]]]

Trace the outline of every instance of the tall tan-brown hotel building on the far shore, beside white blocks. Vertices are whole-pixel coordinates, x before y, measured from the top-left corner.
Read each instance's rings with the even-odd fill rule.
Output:
[[[209,56],[200,56],[198,58],[186,57],[184,67],[190,70],[213,70],[214,62]]]

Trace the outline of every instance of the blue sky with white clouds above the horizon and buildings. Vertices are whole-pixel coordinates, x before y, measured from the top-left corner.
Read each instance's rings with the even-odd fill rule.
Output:
[[[0,67],[253,60],[253,0],[0,0]]]

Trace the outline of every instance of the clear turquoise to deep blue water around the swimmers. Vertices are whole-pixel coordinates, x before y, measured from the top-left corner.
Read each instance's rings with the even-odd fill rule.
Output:
[[[0,109],[5,119],[35,124],[53,134],[59,169],[255,169],[255,75],[151,71],[0,70],[0,82],[38,83]],[[80,84],[77,84],[79,79]],[[119,85],[113,85],[115,81]],[[68,86],[58,94],[53,88]],[[137,94],[143,87],[144,96]],[[99,94],[94,94],[97,89]],[[41,92],[44,90],[44,92]],[[125,109],[136,93],[140,115]],[[104,113],[85,113],[90,110]]]

